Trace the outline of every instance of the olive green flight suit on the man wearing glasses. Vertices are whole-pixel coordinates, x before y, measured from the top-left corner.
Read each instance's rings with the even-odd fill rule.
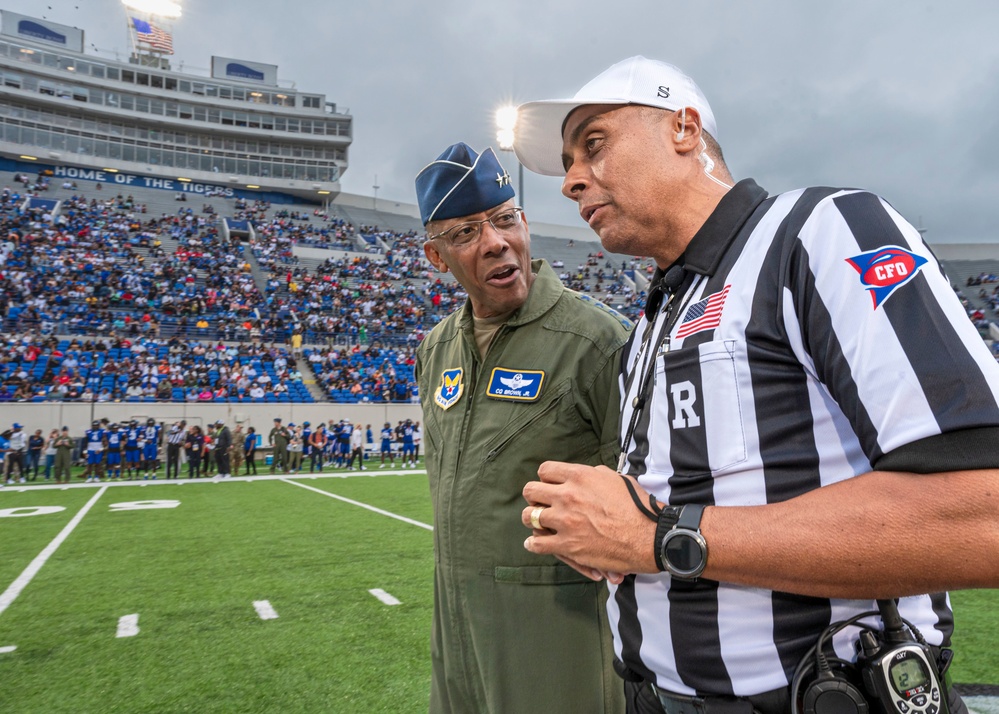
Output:
[[[468,302],[417,352],[434,507],[434,713],[624,711],[606,586],[528,553],[520,518],[543,461],[616,466],[630,324],[564,288],[543,261],[532,270],[527,302],[484,360]]]

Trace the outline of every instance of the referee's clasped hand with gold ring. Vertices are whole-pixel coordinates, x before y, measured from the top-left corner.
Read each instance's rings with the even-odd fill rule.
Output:
[[[632,501],[621,476],[606,466],[546,461],[539,481],[524,486],[528,506],[521,522],[528,528],[531,513],[543,506],[539,522],[524,547],[554,555],[594,580],[620,583],[624,573],[656,573],[653,544],[656,524]],[[630,479],[645,502],[648,493]]]

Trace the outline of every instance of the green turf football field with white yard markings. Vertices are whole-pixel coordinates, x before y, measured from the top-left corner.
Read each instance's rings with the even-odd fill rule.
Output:
[[[426,711],[432,537],[422,471],[5,487],[0,712]],[[999,684],[999,598],[953,601]]]

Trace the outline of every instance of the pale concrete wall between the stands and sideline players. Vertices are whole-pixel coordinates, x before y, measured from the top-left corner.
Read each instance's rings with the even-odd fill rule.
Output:
[[[274,418],[281,417],[285,424],[303,421],[317,424],[320,421],[349,419],[351,422],[371,424],[376,431],[385,422],[395,426],[400,419],[423,421],[419,404],[188,404],[163,402],[156,404],[135,402],[87,403],[6,402],[0,405],[0,430],[10,428],[14,422],[24,425],[29,434],[41,429],[48,436],[50,429],[68,426],[74,436],[82,436],[94,419],[107,417],[112,422],[138,419],[145,423],[149,417],[157,422],[171,424],[183,419],[188,424],[204,426],[216,419],[223,419],[231,427],[242,424],[243,429],[254,427],[266,435]]]

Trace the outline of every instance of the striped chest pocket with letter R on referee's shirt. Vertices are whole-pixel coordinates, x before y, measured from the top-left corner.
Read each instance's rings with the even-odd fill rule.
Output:
[[[656,422],[670,434],[678,474],[717,473],[746,460],[749,394],[744,345],[706,342],[664,354],[656,364]]]

